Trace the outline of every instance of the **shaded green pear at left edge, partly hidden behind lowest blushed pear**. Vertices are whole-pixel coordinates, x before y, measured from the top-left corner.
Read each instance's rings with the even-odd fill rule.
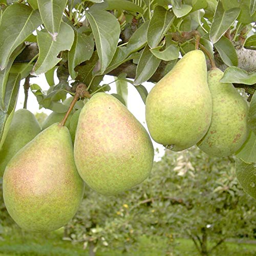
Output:
[[[31,141],[41,128],[35,116],[26,109],[14,113],[7,137],[0,150],[0,176],[4,174],[5,167],[11,158]]]

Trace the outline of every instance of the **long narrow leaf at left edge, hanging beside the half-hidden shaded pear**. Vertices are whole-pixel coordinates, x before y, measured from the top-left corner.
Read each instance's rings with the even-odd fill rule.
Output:
[[[15,111],[19,82],[19,74],[9,74],[4,98],[5,110],[0,110],[0,148],[5,141]]]

